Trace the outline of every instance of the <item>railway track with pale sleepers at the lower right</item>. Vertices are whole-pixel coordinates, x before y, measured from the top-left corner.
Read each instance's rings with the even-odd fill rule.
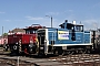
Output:
[[[98,54],[77,54],[50,57],[49,61],[60,62],[67,66],[100,66],[100,55]]]

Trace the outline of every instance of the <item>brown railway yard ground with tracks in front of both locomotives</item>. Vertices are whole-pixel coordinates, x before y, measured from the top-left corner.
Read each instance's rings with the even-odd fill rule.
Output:
[[[99,54],[73,54],[64,56],[10,56],[0,48],[0,66],[100,66]]]

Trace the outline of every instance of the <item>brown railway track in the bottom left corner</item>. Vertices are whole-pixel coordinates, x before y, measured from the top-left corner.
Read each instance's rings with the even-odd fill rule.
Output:
[[[36,66],[36,64],[18,59],[17,56],[10,57],[2,55],[0,56],[0,66]]]

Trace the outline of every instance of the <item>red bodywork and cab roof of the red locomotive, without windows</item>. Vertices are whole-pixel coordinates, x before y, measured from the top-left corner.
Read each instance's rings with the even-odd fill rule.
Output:
[[[43,29],[46,26],[41,26],[41,25],[34,25],[32,24],[31,26],[28,26],[27,29],[23,29],[27,31],[37,31],[38,29]],[[37,37],[37,32],[36,33],[26,33],[26,34],[11,34],[8,35],[8,44],[16,44],[19,43],[19,41],[21,40],[21,44],[30,44],[30,41],[32,41],[33,43],[36,43],[36,37]]]

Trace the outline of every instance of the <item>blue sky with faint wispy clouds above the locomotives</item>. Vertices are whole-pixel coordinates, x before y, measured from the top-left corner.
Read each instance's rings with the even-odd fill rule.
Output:
[[[68,20],[84,24],[84,29],[100,28],[100,0],[0,0],[0,34],[31,24],[53,28]]]

